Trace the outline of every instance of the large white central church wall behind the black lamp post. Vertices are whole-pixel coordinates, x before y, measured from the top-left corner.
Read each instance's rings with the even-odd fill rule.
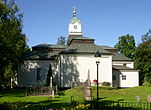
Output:
[[[65,87],[72,86],[73,82],[85,82],[90,73],[90,80],[97,79],[97,65],[99,64],[99,83],[104,81],[112,84],[112,56],[95,58],[94,55],[62,55],[61,60],[61,84]]]

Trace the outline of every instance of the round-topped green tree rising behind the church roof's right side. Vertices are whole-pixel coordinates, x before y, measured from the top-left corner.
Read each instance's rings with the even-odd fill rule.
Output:
[[[135,52],[135,39],[132,35],[124,35],[120,36],[118,38],[118,43],[115,45],[115,48],[118,49],[118,51],[125,56],[133,59],[134,58],[134,52]]]

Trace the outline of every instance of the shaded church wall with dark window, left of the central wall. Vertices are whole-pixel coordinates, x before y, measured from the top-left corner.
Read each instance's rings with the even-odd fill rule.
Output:
[[[54,71],[55,69],[54,63],[49,60],[25,61],[24,65],[18,71],[18,86],[27,87],[29,85],[30,86],[45,85],[50,63],[52,64],[52,70]],[[37,79],[38,74],[41,74],[41,76]]]

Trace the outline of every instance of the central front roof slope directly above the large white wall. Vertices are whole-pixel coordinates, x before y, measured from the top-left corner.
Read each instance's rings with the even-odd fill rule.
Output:
[[[96,53],[97,51],[102,54],[111,54],[93,43],[72,43],[61,53]]]

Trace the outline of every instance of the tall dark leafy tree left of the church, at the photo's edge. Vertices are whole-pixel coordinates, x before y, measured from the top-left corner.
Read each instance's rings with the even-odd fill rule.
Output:
[[[22,56],[29,51],[22,32],[22,17],[13,0],[0,1],[0,86],[10,86]]]

